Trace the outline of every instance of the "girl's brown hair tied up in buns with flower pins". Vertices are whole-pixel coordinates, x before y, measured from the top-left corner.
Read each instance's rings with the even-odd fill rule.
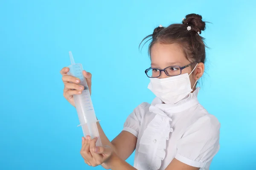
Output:
[[[163,44],[177,43],[183,49],[186,59],[188,59],[190,62],[204,63],[205,48],[207,46],[204,43],[204,37],[201,37],[199,34],[201,34],[201,31],[205,30],[205,23],[206,22],[202,21],[201,15],[188,14],[186,15],[186,18],[183,19],[181,24],[171,24],[166,28],[163,26],[155,28],[153,34],[145,37],[142,42],[151,37],[152,41],[150,42],[148,48],[149,55],[151,53],[152,46],[156,42]],[[189,28],[191,29],[189,30]],[[140,45],[142,42],[140,42]]]

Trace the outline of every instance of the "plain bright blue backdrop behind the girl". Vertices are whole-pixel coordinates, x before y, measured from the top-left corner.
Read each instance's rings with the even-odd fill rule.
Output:
[[[199,100],[221,122],[210,169],[255,170],[255,7],[254,0],[1,0],[0,169],[103,169],[79,153],[82,131],[59,73],[68,51],[93,74],[93,105],[112,140],[128,114],[154,98],[140,41],[198,13],[211,22],[202,34],[210,49]]]

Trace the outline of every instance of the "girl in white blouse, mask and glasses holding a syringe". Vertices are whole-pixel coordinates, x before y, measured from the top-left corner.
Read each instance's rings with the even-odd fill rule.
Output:
[[[105,147],[96,147],[96,138],[83,137],[81,156],[86,164],[112,170],[209,170],[219,150],[220,123],[197,98],[196,84],[204,74],[206,46],[200,36],[204,29],[201,15],[189,14],[182,24],[160,25],[143,39],[152,38],[151,67],[145,74],[156,98],[137,106],[112,142],[98,123]],[[64,97],[75,106],[72,95],[81,94],[84,87],[68,71],[61,70]],[[83,74],[90,87],[91,74]],[[134,150],[132,167],[125,160]]]

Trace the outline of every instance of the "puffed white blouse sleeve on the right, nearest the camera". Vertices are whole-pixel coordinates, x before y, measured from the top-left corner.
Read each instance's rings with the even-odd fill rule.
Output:
[[[205,115],[186,130],[177,142],[175,159],[193,167],[205,167],[219,150],[220,123]]]

